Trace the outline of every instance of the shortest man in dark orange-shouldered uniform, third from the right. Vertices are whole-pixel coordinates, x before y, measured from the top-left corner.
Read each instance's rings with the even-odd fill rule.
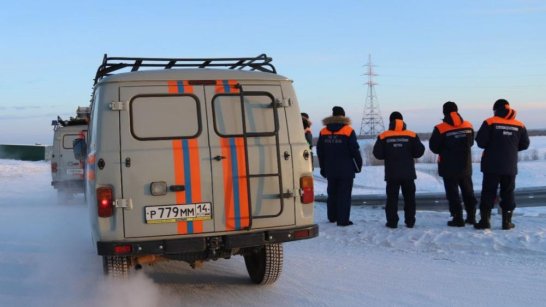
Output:
[[[404,218],[408,228],[415,225],[415,158],[425,152],[425,146],[415,132],[406,130],[402,114],[392,112],[389,130],[381,133],[373,147],[373,155],[385,160],[387,205],[385,215],[389,228],[398,227],[398,193],[404,196]]]

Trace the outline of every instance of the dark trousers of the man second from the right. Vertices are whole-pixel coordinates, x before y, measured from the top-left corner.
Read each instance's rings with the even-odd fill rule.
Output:
[[[451,216],[461,216],[463,208],[461,206],[461,197],[459,196],[459,187],[463,195],[464,208],[466,213],[474,215],[476,212],[476,197],[474,196],[474,187],[471,176],[444,177],[444,188],[446,190],[447,201],[449,202],[449,212]]]

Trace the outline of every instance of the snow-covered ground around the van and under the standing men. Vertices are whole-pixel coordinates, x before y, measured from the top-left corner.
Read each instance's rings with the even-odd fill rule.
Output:
[[[544,165],[529,168],[540,173]],[[536,176],[536,183],[546,185]],[[317,203],[320,236],[285,244],[281,278],[260,287],[249,282],[241,257],[197,270],[165,262],[127,281],[105,279],[87,208],[80,198],[56,202],[48,163],[0,160],[0,187],[0,306],[544,306],[546,301],[544,208],[516,211],[511,231],[500,230],[498,215],[492,230],[477,231],[448,228],[447,212],[427,211],[417,213],[413,229],[388,229],[381,208],[362,206],[352,208],[354,226],[336,227]]]

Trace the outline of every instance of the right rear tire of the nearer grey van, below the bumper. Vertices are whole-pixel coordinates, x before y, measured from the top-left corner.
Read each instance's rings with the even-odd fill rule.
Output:
[[[244,257],[248,275],[255,284],[272,284],[281,275],[283,264],[281,243],[267,244],[255,248]]]

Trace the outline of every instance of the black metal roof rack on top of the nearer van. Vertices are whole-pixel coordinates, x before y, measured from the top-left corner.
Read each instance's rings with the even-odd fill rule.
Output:
[[[124,68],[130,68],[130,71],[138,71],[142,67],[161,67],[163,69],[227,67],[228,69],[258,70],[276,74],[277,70],[271,64],[272,60],[265,53],[250,58],[131,58],[108,57],[104,54],[102,64],[97,69],[94,84],[115,71]]]

